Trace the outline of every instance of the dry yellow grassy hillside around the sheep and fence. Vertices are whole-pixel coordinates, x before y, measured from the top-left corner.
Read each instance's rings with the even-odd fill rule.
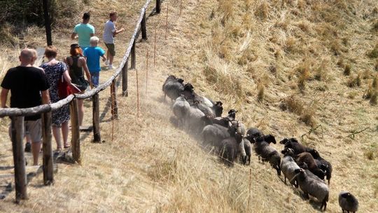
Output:
[[[142,4],[113,5],[123,13],[118,25],[128,29],[118,37],[118,61]],[[106,143],[91,144],[91,135],[83,134],[83,165],[59,164],[54,186],[39,187],[41,177],[36,178],[29,184],[30,200],[14,205],[10,193],[0,200],[0,211],[318,211],[316,203],[285,186],[257,157],[250,166],[225,167],[174,128],[169,102],[160,92],[167,74],[182,76],[198,93],[221,99],[225,109],[238,109],[237,118],[248,127],[278,140],[297,137],[318,149],[334,166],[328,212],[340,212],[337,195],[342,190],[356,195],[360,212],[378,209],[377,2],[183,1],[181,15],[179,4],[165,1],[163,13],[148,19],[150,39],[137,43],[139,118],[137,72],[130,71],[130,97],[118,97],[120,120],[109,121],[109,91],[100,94]],[[101,35],[104,3],[93,1],[90,8]],[[34,30],[28,41],[43,45],[36,36],[43,30]],[[55,43],[67,53],[71,29],[59,30]],[[111,72],[101,75],[105,80]],[[85,123],[90,123],[91,104],[85,105]],[[7,123],[2,118],[0,165],[12,165]]]

